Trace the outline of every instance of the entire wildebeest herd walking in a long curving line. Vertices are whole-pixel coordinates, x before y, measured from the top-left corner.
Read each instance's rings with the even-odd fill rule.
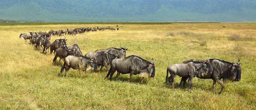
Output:
[[[61,67],[59,75],[63,75],[65,69],[65,76],[67,76],[70,68],[78,69],[81,76],[81,71],[97,71],[97,67],[100,67],[99,71],[102,71],[103,67],[106,67],[109,71],[105,78],[110,76],[112,79],[113,74],[117,71],[116,80],[118,80],[120,74],[130,74],[130,82],[132,82],[132,76],[139,74],[141,79],[141,84],[145,77],[154,77],[155,76],[155,63],[152,58],[150,61],[144,60],[143,58],[135,55],[127,56],[126,51],[128,48],[121,47],[115,48],[111,47],[108,49],[96,50],[94,52],[87,52],[83,56],[79,46],[77,44],[67,45],[66,38],[56,39],[54,42],[50,42],[51,36],[54,35],[76,35],[83,34],[84,32],[97,31],[97,30],[115,30],[115,28],[75,28],[67,30],[50,30],[47,32],[29,32],[30,34],[20,34],[20,38],[25,40],[29,39],[30,43],[36,48],[41,50],[42,53],[54,53],[53,63],[56,64],[56,60],[59,57],[59,63],[61,59],[64,59],[64,64]],[[181,78],[179,86],[183,84],[185,86],[186,80],[189,82],[188,89],[192,90],[193,87],[193,78],[197,77],[200,79],[212,79],[213,85],[212,89],[215,92],[214,87],[216,82],[221,85],[222,93],[224,89],[224,84],[220,81],[231,80],[231,81],[240,81],[241,80],[241,68],[240,68],[240,59],[238,58],[237,62],[227,62],[219,59],[208,59],[208,60],[195,60],[190,59],[186,60],[183,63],[177,63],[169,65],[166,69],[166,85],[168,82],[174,89],[175,76],[178,75]],[[109,68],[110,65],[110,68]],[[170,77],[169,77],[170,74]]]

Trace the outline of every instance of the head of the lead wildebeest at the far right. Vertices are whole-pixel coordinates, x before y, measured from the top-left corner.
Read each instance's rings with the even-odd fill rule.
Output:
[[[237,63],[234,63],[234,60],[233,60],[233,65],[231,67],[231,70],[230,70],[230,79],[232,81],[240,81],[241,80],[241,68],[240,68],[240,64],[239,63],[240,59],[238,58],[238,61]]]

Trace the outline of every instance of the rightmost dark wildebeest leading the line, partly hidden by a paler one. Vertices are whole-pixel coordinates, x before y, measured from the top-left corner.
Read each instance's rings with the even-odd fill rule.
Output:
[[[183,63],[189,63],[189,62],[204,62],[205,60],[186,60]],[[219,94],[222,93],[224,89],[224,84],[220,81],[222,78],[223,79],[230,79],[232,81],[240,81],[241,80],[241,68],[239,61],[240,59],[238,58],[237,63],[229,63],[224,60],[219,60],[219,59],[209,59],[211,63],[211,68],[212,68],[212,74],[205,75],[205,76],[200,76],[198,78],[201,79],[212,79],[213,80],[213,85],[212,89],[213,92],[215,92],[215,84],[218,82],[221,85],[221,91]],[[186,83],[187,78],[184,77],[181,80],[181,83]]]

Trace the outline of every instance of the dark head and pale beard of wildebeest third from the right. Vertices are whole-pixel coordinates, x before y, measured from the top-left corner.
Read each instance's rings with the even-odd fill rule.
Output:
[[[149,77],[154,78],[155,72],[156,72],[156,69],[155,69],[155,65],[154,65],[154,59],[152,58],[151,61],[148,63],[148,65],[145,66],[145,68],[140,71],[140,75],[147,74]],[[145,75],[143,75],[143,76],[145,76]]]

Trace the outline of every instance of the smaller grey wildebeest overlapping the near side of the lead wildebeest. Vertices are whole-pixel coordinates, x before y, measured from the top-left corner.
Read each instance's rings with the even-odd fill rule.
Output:
[[[188,77],[189,78],[189,88],[192,90],[193,87],[193,77],[200,76],[204,74],[208,74],[212,72],[211,64],[209,60],[205,61],[204,63],[177,63],[173,64],[167,67],[166,69],[166,81],[165,83],[169,81],[171,86],[174,89],[174,82],[175,82],[175,76],[178,75],[180,77]],[[170,73],[170,77],[168,77]]]

